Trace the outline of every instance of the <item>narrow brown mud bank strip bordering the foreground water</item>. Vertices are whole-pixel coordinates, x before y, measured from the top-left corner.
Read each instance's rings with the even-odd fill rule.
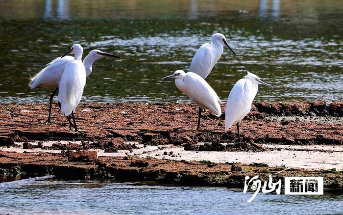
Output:
[[[284,177],[324,177],[325,192],[343,192],[343,174],[334,170],[304,170],[269,167],[260,163],[211,163],[173,161],[137,157],[99,157],[95,151],[66,151],[60,154],[0,152],[0,175],[53,174],[58,178],[114,179],[116,181],[157,182],[180,186],[221,186],[244,188],[245,176],[262,180]]]

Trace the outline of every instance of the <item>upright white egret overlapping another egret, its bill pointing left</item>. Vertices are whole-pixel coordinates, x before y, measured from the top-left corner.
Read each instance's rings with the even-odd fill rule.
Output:
[[[74,53],[75,56],[73,60],[66,63],[61,81],[58,83],[58,102],[60,104],[61,112],[68,119],[69,129],[72,130],[71,126],[73,125],[75,131],[77,131],[74,112],[81,101],[83,88],[86,85],[86,69],[81,59],[83,53],[81,45],[73,45],[72,49],[67,54],[69,53]],[[73,117],[73,123],[71,122],[71,117]]]

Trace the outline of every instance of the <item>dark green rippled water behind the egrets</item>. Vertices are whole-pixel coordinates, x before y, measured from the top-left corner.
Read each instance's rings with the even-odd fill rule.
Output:
[[[206,79],[222,100],[249,70],[274,85],[256,101],[343,99],[342,0],[0,0],[0,103],[47,101],[28,79],[80,43],[101,59],[82,101],[177,102],[172,80],[221,32],[224,49]]]

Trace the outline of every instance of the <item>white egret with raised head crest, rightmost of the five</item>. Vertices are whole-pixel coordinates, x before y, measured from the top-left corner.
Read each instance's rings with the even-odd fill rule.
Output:
[[[261,81],[256,75],[247,72],[243,79],[235,83],[227,99],[225,130],[236,123],[239,142],[241,142],[239,123],[250,112],[252,101],[257,94],[258,84],[272,87],[270,84]]]

